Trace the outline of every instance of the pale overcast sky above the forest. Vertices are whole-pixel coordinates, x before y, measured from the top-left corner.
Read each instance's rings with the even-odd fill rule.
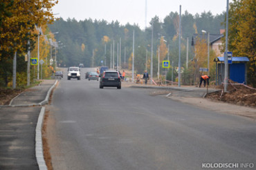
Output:
[[[129,22],[145,28],[145,2],[146,0],[59,0],[53,13],[65,20],[68,17],[77,21],[104,19],[109,23],[118,20],[122,25]],[[182,14],[185,10],[192,15],[210,10],[216,15],[226,11],[226,3],[226,0],[147,0],[147,26],[156,15],[163,21],[170,12],[179,13],[180,5]]]

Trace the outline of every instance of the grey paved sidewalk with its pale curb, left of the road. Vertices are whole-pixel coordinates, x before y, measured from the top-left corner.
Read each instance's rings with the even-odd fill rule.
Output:
[[[0,169],[47,169],[42,151],[44,104],[57,81],[44,80],[0,106]]]

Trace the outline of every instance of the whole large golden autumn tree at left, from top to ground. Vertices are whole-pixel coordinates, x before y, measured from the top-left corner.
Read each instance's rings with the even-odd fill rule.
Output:
[[[17,72],[26,66],[24,53],[28,50],[28,41],[33,49],[35,37],[39,32],[35,26],[44,26],[54,21],[51,8],[57,1],[40,0],[1,0],[0,2],[0,83],[8,83],[12,74],[12,58],[17,55]],[[21,65],[23,64],[23,65]],[[26,70],[26,69],[22,69]],[[4,76],[4,77],[3,77]],[[19,77],[18,77],[19,78]],[[5,84],[5,85],[6,85]]]

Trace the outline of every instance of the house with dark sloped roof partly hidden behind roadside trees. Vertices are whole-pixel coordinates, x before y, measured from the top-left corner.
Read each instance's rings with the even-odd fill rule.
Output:
[[[223,32],[225,30],[220,30],[222,34],[210,34],[209,39],[210,39],[210,49],[214,50],[217,56],[223,57],[224,53],[221,53],[221,48],[220,46],[222,45],[221,38],[224,37]],[[196,45],[196,40],[197,39],[205,39],[205,42],[208,43],[208,34],[193,34],[192,36],[192,46]]]

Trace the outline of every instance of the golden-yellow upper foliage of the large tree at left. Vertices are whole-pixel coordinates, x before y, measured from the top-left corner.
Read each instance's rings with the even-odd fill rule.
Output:
[[[54,21],[51,8],[56,3],[57,1],[51,0],[26,2],[24,0],[1,0],[1,4],[5,7],[3,10],[10,15],[2,15],[4,12],[1,12],[0,57],[2,58],[3,51],[19,50],[21,53],[24,52],[27,44],[24,38],[33,37],[33,34],[28,33],[34,29],[35,25],[40,27]]]

